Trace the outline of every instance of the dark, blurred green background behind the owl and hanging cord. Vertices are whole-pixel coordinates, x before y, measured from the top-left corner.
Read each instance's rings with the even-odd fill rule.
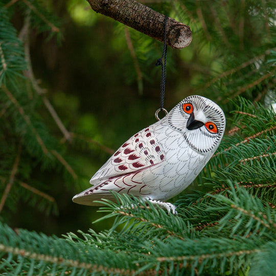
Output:
[[[271,38],[274,36],[268,36],[269,20],[263,18],[261,12],[249,12],[255,5],[251,2],[230,1],[225,5],[221,1],[154,2],[143,1],[143,4],[189,25],[193,32],[188,48],[168,48],[165,108],[170,110],[185,97],[198,94],[223,105],[228,116],[233,105],[223,102],[229,96],[223,95],[225,86],[233,86],[235,95],[237,87],[250,82],[248,74],[252,70],[256,72],[258,60],[249,63],[246,72],[237,70],[235,78],[227,83],[217,82],[211,86],[208,81],[275,47]],[[40,87],[46,89],[45,96],[65,128],[76,139],[72,142],[63,139],[42,103],[37,111],[59,141],[66,162],[78,177],[64,176],[53,168],[44,170],[37,164],[28,183],[35,184],[35,179],[40,183],[37,189],[55,198],[58,214],[46,215],[32,204],[19,200],[15,212],[4,210],[6,221],[12,227],[58,236],[76,233],[78,229],[87,232],[90,227],[100,231],[109,228],[112,221],[91,224],[103,215],[97,212],[99,208],[75,204],[72,197],[89,187],[91,176],[106,162],[112,150],[135,132],[156,122],[154,113],[159,107],[161,68],[156,67],[155,62],[162,55],[163,43],[97,14],[85,0],[41,3],[58,18],[62,38],[31,30],[34,75]],[[260,3],[269,5],[269,2]],[[12,23],[19,32],[24,16],[22,10],[13,9]],[[133,45],[134,59],[127,40]],[[142,79],[137,77],[140,74]],[[263,87],[245,89],[242,96],[256,99],[261,90]],[[184,193],[194,187],[191,185]]]

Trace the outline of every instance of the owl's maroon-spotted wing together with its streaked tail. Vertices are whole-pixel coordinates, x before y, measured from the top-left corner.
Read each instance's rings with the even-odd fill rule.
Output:
[[[92,188],[75,195],[73,201],[84,205],[99,205],[94,200],[106,198],[113,200],[109,192],[148,195],[147,185],[141,182],[139,173],[150,171],[163,162],[165,152],[157,141],[158,131],[151,125],[124,143],[91,178]],[[134,180],[135,178],[135,180]]]

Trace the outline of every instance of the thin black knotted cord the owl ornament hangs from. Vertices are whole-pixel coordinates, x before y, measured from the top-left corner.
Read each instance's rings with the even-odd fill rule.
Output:
[[[161,65],[161,86],[160,86],[160,110],[164,110],[164,98],[165,98],[165,82],[166,82],[166,61],[167,61],[167,20],[168,15],[166,15],[164,20],[164,44],[163,44],[163,53],[162,57],[158,58],[155,66]],[[165,109],[166,110],[166,109]],[[166,110],[167,111],[167,110]]]

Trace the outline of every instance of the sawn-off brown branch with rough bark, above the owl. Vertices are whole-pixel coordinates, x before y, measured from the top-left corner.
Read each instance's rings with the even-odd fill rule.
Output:
[[[87,0],[91,8],[141,33],[164,41],[165,15],[134,0]],[[167,20],[167,41],[172,48],[185,48],[192,41],[190,27],[172,18]]]

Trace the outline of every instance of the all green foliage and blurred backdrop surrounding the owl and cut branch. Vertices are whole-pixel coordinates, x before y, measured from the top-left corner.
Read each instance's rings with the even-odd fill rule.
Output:
[[[90,209],[64,203],[72,183],[87,187],[113,152],[107,146],[153,122],[162,43],[80,0],[62,3],[0,1],[0,273],[274,275],[276,3],[149,3],[193,31],[187,49],[168,50],[167,105],[211,98],[225,111],[225,136],[195,191],[175,198],[178,216],[114,194],[93,229],[77,234]],[[61,209],[74,231],[58,238],[18,229],[16,214],[26,220],[33,209],[41,212],[34,227],[43,213],[51,225]]]

